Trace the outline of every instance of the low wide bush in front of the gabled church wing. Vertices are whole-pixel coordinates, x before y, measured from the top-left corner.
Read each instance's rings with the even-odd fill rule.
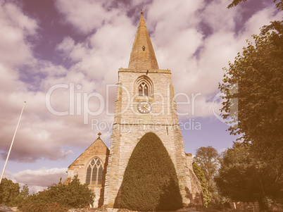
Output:
[[[58,204],[63,208],[85,208],[93,203],[94,192],[86,184],[80,184],[80,180],[75,175],[68,185],[53,184],[42,192],[30,195],[19,208],[27,208],[27,206],[33,204],[41,207],[46,204]]]

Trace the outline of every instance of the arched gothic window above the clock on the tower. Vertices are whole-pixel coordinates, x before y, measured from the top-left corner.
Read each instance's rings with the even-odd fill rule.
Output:
[[[135,83],[139,96],[149,96],[153,97],[153,83],[146,75],[142,75],[137,78]]]

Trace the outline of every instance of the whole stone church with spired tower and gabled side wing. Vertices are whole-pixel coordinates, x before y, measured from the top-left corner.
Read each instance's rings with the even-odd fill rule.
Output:
[[[184,152],[171,74],[170,70],[158,68],[142,12],[129,66],[118,71],[110,149],[99,133],[68,167],[68,178],[64,182],[67,184],[78,175],[80,182],[94,191],[94,207],[120,208],[128,162],[139,141],[149,133],[158,137],[170,156],[182,205],[203,206],[201,184],[192,168],[192,156]]]

